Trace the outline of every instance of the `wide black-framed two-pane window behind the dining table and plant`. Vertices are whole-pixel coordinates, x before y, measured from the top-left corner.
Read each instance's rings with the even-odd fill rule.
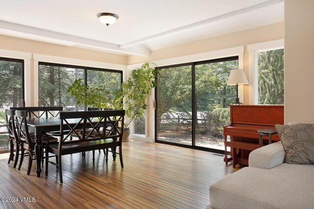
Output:
[[[67,92],[76,79],[91,86],[104,86],[110,92],[119,90],[122,83],[121,70],[89,68],[52,63],[39,63],[39,99],[41,106],[62,106],[66,111],[84,110]]]

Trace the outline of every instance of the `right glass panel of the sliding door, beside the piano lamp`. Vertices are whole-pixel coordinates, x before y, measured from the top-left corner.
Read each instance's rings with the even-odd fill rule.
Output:
[[[195,146],[225,149],[223,126],[230,122],[228,105],[236,94],[227,81],[237,68],[237,60],[195,65]]]

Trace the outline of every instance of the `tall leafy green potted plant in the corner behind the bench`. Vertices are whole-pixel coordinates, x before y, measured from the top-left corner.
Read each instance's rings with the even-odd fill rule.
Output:
[[[157,67],[154,63],[144,63],[139,69],[132,70],[130,78],[122,83],[117,92],[110,92],[105,86],[86,86],[81,79],[75,80],[68,92],[77,99],[78,105],[125,109],[127,121],[124,123],[123,138],[128,140],[131,121],[145,113],[146,95],[157,85],[156,70],[151,66]]]

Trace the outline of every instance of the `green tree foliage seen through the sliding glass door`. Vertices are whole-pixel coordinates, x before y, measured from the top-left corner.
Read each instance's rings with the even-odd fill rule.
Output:
[[[235,87],[228,86],[230,70],[238,68],[238,61],[225,61],[195,66],[195,100],[196,109],[200,113],[202,123],[198,127],[211,127],[214,131],[222,132],[218,127],[229,121],[228,105],[235,98]],[[159,70],[158,76],[158,131],[164,118],[189,118],[192,112],[192,67],[182,66]],[[214,114],[219,109],[222,116]],[[221,110],[222,109],[222,110]],[[213,114],[211,114],[213,113]],[[198,121],[198,120],[197,120]],[[219,124],[218,124],[219,123]],[[221,126],[222,127],[222,126]]]

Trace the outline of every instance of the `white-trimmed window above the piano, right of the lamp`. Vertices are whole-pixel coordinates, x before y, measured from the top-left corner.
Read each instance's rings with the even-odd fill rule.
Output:
[[[258,104],[284,104],[284,49],[258,51]]]

